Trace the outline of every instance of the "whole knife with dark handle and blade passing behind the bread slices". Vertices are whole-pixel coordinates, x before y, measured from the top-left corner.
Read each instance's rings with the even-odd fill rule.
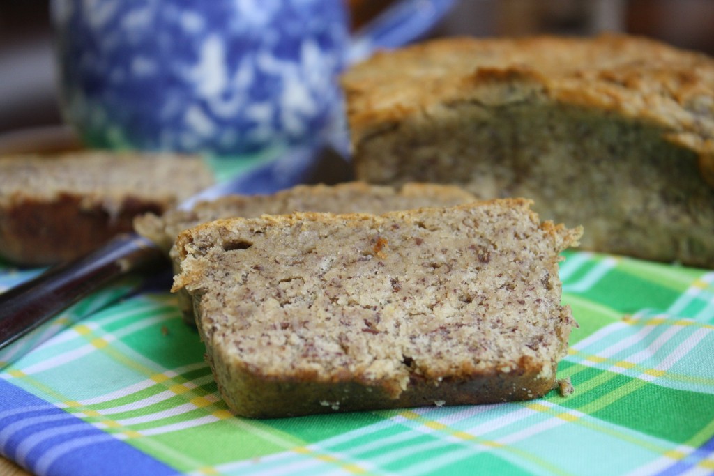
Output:
[[[338,183],[351,171],[342,147],[291,148],[268,166],[206,188],[183,201],[188,210],[201,201],[232,193],[273,193],[295,183]],[[289,170],[289,173],[278,173]],[[270,180],[266,180],[270,178]],[[0,294],[0,368],[9,365],[53,335],[60,313],[128,273],[170,268],[168,256],[136,233],[123,233],[102,248],[70,263],[49,268],[37,278]]]

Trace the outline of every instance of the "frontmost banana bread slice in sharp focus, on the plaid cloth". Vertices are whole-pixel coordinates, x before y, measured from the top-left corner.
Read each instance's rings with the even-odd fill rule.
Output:
[[[524,400],[567,351],[558,260],[579,236],[518,199],[234,218],[178,236],[173,290],[237,415]]]

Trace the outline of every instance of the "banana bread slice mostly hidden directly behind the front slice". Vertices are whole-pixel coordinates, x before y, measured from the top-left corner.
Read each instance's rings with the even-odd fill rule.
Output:
[[[395,188],[370,186],[362,182],[335,186],[298,185],[271,195],[225,196],[216,201],[197,203],[190,211],[171,210],[163,216],[146,213],[134,220],[136,231],[166,250],[178,273],[178,254],[172,248],[178,233],[200,223],[218,218],[254,218],[263,214],[282,215],[295,211],[333,213],[384,213],[426,206],[450,206],[467,203],[476,197],[456,186],[407,183]],[[183,320],[195,323],[193,301],[181,291],[178,304]]]

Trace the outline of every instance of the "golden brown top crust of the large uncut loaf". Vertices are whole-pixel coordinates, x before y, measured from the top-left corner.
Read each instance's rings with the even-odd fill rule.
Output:
[[[509,87],[485,93],[493,84]],[[615,34],[439,39],[377,54],[348,71],[343,85],[356,147],[450,101],[496,105],[537,96],[660,127],[667,140],[698,154],[714,187],[714,60],[658,41]]]

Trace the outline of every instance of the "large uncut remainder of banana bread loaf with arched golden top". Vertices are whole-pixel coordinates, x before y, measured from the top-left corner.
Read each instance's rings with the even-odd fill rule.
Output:
[[[648,39],[441,39],[343,78],[357,178],[523,196],[583,248],[714,267],[714,59]]]

